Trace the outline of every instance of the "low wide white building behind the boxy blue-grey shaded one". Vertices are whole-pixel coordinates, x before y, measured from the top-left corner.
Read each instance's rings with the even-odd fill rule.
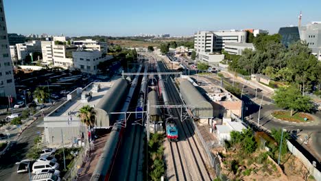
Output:
[[[97,42],[95,40],[86,39],[86,40],[73,41],[73,45],[75,45],[77,47],[81,47],[84,50],[95,49],[98,51],[102,51],[102,53],[108,53],[108,46],[107,46],[106,42]]]

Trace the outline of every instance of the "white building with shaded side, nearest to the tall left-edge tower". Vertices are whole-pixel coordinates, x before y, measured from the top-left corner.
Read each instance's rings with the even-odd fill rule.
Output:
[[[41,43],[39,40],[16,44],[16,54],[18,56],[18,60],[25,60],[26,56],[34,52],[41,52]]]

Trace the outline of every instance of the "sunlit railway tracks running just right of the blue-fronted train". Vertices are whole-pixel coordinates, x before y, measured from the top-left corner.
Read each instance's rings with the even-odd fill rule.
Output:
[[[162,67],[162,71],[165,71],[163,64],[160,64],[160,67]],[[183,104],[171,79],[165,82],[165,89],[171,104]],[[189,122],[190,120],[180,121],[180,110],[178,109],[174,109],[174,116],[178,117],[179,123],[177,125],[180,134],[180,141],[178,143],[170,143],[170,145],[176,144],[177,147],[175,150],[171,146],[172,159],[174,164],[176,164],[176,167],[174,166],[176,180],[211,180],[202,156],[200,143],[195,138],[192,125]],[[183,153],[179,152],[180,150],[183,150]],[[176,156],[177,153],[180,154],[179,157]],[[177,158],[179,158],[179,162],[176,161]],[[180,168],[182,168],[182,173],[179,171]]]

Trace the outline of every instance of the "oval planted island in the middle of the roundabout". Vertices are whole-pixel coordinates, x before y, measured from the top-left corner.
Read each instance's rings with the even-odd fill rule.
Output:
[[[304,123],[308,121],[313,121],[313,117],[302,112],[296,112],[291,116],[291,112],[281,110],[281,111],[272,112],[272,116],[276,117],[277,119],[281,119],[283,121],[290,121],[295,123],[302,123],[302,122]],[[305,118],[307,118],[307,121],[305,121]]]

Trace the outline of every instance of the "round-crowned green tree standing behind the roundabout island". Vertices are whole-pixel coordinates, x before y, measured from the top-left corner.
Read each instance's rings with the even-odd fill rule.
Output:
[[[278,88],[272,99],[274,99],[274,102],[279,107],[291,110],[291,116],[293,115],[294,110],[309,112],[313,108],[311,98],[302,96],[300,90],[294,86]]]

